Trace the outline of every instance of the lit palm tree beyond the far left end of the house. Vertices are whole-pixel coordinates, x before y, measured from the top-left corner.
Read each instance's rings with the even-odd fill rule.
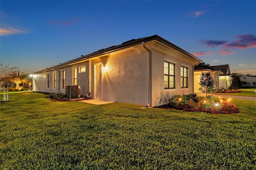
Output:
[[[28,79],[24,72],[20,73],[20,70],[14,70],[8,73],[8,77],[10,80],[16,84],[16,90],[19,88],[20,83],[30,83],[30,79]]]

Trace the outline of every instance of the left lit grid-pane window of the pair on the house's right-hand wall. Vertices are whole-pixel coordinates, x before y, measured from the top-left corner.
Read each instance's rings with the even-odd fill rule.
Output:
[[[174,64],[164,61],[164,89],[174,88]]]

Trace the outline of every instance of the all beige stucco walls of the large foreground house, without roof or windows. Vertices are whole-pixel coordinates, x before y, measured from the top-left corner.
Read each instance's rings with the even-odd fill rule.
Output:
[[[168,103],[171,95],[183,95],[194,91],[193,65],[198,63],[193,57],[189,57],[186,52],[179,51],[157,41],[146,43],[146,47],[151,51],[152,57],[152,89],[150,104],[152,107]],[[164,89],[164,61],[175,65],[175,88]],[[91,98],[96,98],[96,76],[95,69],[101,69],[101,64],[105,70],[101,73],[101,97],[104,101],[134,103],[147,105],[148,103],[148,51],[142,44],[136,44],[110,53],[102,53],[97,56],[85,58],[80,63],[69,63],[60,66],[57,70],[52,69],[44,73],[38,73],[34,77],[34,91],[62,92],[62,71],[65,71],[66,85],[73,85],[73,69],[77,68],[77,85],[80,85],[81,95],[85,96],[91,92]],[[79,73],[79,67],[86,66],[86,72]],[[181,88],[180,67],[188,68],[188,87]],[[53,74],[56,72],[57,87],[54,88]],[[98,72],[99,73],[99,72]],[[47,88],[47,78],[44,74],[49,74],[49,88]],[[99,76],[98,76],[99,77]],[[89,85],[89,86],[88,86]],[[98,95],[98,93],[97,93]]]

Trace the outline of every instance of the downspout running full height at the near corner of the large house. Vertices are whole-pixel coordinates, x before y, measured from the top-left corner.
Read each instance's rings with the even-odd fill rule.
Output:
[[[146,47],[145,42],[142,42],[142,47],[144,47],[147,51],[148,51],[148,104],[146,105],[146,107],[150,107],[151,106],[151,100],[152,100],[152,63],[151,63],[151,51],[148,49],[148,47]]]

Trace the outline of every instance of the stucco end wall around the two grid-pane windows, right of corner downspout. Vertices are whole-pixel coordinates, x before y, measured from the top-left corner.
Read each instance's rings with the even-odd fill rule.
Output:
[[[174,89],[164,89],[164,61],[175,64]],[[193,93],[193,64],[195,61],[176,51],[168,49],[166,53],[161,53],[152,50],[152,107],[168,103],[171,95]],[[188,68],[188,88],[181,88],[180,66]]]

